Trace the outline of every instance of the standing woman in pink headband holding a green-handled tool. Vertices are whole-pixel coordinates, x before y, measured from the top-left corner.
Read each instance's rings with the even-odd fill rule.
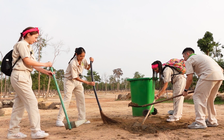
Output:
[[[19,61],[13,67],[11,73],[11,84],[16,92],[15,102],[12,109],[11,120],[8,129],[8,139],[26,138],[27,135],[20,132],[19,123],[26,109],[30,121],[31,138],[44,138],[49,134],[40,128],[40,114],[38,110],[38,102],[32,90],[32,79],[30,73],[33,68],[47,75],[52,75],[51,71],[47,71],[41,66],[51,67],[52,63],[39,63],[35,60],[32,47],[30,46],[37,41],[39,29],[28,27],[21,33],[19,41],[13,48],[13,64]]]

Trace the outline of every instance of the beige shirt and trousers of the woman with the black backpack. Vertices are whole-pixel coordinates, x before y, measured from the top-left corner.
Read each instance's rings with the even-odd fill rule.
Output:
[[[13,48],[13,64],[19,56],[21,58],[14,66],[10,77],[12,87],[16,92],[8,130],[10,134],[16,134],[20,131],[19,123],[25,109],[28,113],[31,131],[35,133],[41,130],[38,102],[32,90],[32,79],[30,75],[33,68],[31,66],[26,66],[22,60],[26,57],[35,60],[31,52],[32,47],[25,40],[16,43]]]

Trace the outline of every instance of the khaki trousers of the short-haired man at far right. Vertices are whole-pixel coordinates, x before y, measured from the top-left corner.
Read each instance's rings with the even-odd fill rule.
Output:
[[[205,114],[208,112],[208,120],[211,124],[217,123],[214,101],[222,80],[208,81],[199,79],[193,95],[195,107],[195,121],[206,126]]]

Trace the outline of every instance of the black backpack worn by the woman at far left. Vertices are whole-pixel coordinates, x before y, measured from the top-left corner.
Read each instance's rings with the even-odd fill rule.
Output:
[[[12,51],[13,51],[13,50],[9,51],[9,52],[4,56],[4,58],[3,58],[3,60],[2,60],[2,64],[1,64],[1,71],[2,71],[5,75],[7,75],[7,76],[11,76],[13,67],[15,66],[15,64],[16,64],[16,63],[19,61],[19,59],[21,58],[21,57],[19,57],[19,58],[16,60],[15,64],[12,65]]]

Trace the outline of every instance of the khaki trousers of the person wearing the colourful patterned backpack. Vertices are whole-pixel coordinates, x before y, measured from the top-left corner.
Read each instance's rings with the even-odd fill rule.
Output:
[[[186,85],[186,78],[183,75],[176,75],[173,84],[173,96],[182,94]],[[183,112],[184,96],[173,99],[173,117],[180,119]]]

